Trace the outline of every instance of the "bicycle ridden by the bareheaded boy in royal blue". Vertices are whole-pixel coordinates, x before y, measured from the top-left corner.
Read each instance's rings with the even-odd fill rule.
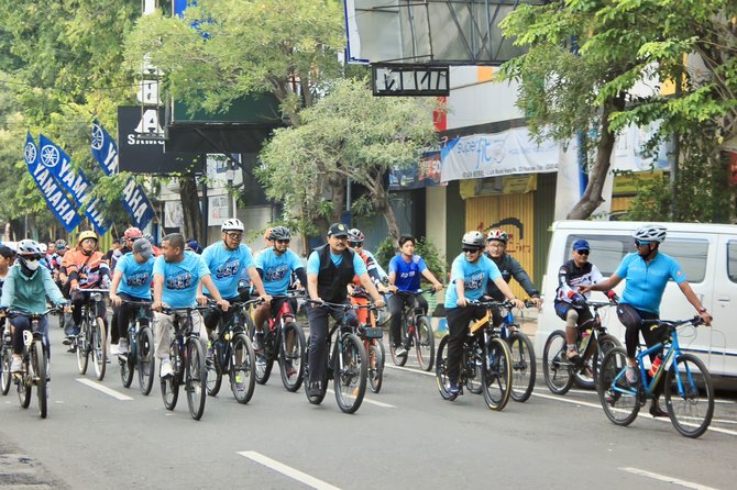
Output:
[[[432,369],[435,360],[435,332],[430,319],[425,314],[425,311],[419,308],[416,296],[425,294],[426,292],[435,292],[435,289],[420,289],[418,291],[395,291],[394,294],[411,296],[413,302],[405,304],[402,309],[402,335],[399,345],[404,346],[405,354],[397,355],[394,345],[395,339],[391,338],[389,352],[392,353],[392,360],[396,366],[404,366],[407,364],[409,357],[409,349],[415,346],[417,354],[417,363],[424,371]],[[389,335],[391,337],[391,335]]]

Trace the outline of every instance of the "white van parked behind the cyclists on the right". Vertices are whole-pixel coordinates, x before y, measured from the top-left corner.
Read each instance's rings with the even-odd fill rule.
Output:
[[[542,358],[548,335],[564,327],[556,315],[553,301],[560,266],[572,258],[571,246],[579,238],[591,245],[588,260],[604,277],[610,276],[622,258],[635,252],[632,232],[648,224],[624,221],[559,221],[553,223],[553,235],[548,252],[548,267],[542,279],[542,312],[538,318],[535,348]],[[660,250],[675,258],[689,283],[704,307],[714,315],[712,327],[685,328],[679,333],[681,349],[698,355],[715,377],[729,377],[726,385],[737,388],[737,226],[726,224],[659,223],[668,229]],[[616,291],[622,296],[625,281]],[[593,292],[592,300],[605,300]],[[605,309],[603,323],[623,342],[625,328],[613,308]],[[664,320],[684,320],[696,315],[678,286],[670,281],[660,305]],[[719,382],[724,386],[724,382]]]

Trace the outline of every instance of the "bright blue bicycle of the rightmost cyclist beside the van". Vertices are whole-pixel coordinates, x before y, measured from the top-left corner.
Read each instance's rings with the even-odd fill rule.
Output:
[[[627,381],[627,353],[624,348],[614,348],[604,356],[598,390],[604,413],[616,425],[631,424],[647,399],[654,398],[653,392],[663,379],[666,408],[673,426],[685,437],[701,436],[714,415],[714,387],[704,363],[693,354],[681,352],[678,328],[685,325],[696,327],[704,323],[703,320],[694,316],[690,320],[650,320],[642,323],[651,324],[651,330],[666,328],[664,339],[645,350],[638,347],[639,377],[635,386]],[[652,377],[645,367],[645,358],[650,354],[662,356],[662,363]],[[651,378],[650,382],[648,378]],[[703,397],[698,383],[703,386]]]

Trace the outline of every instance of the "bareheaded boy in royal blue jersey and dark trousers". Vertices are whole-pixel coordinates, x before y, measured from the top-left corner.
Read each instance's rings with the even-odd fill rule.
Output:
[[[400,253],[395,255],[389,261],[389,283],[396,286],[397,290],[409,294],[394,294],[389,297],[389,313],[392,314],[389,332],[392,342],[397,356],[404,356],[407,350],[402,345],[402,310],[405,304],[414,304],[415,301],[424,312],[427,312],[428,303],[421,294],[416,294],[420,289],[420,275],[432,282],[432,289],[440,291],[442,285],[432,275],[425,260],[419,255],[415,255],[415,237],[413,235],[402,235],[399,237]],[[424,313],[425,314],[425,313]]]

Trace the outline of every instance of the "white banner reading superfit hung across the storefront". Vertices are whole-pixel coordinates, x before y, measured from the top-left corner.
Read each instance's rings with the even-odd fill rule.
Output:
[[[450,140],[441,149],[443,182],[513,174],[558,171],[560,145],[538,145],[526,127]]]

